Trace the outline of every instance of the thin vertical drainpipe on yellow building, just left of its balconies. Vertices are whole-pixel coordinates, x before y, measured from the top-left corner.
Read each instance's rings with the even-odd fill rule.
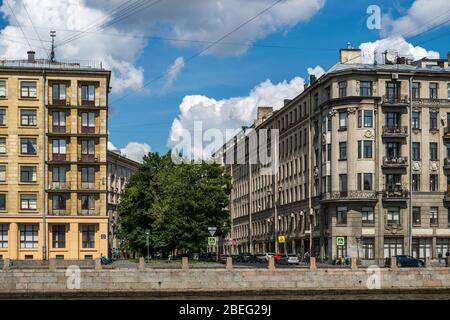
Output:
[[[47,76],[45,74],[45,70],[42,69],[42,139],[43,139],[43,147],[42,147],[42,232],[43,232],[43,244],[42,244],[42,259],[47,260],[47,201],[45,194],[45,185],[47,183],[46,180],[46,167],[45,167],[45,159],[47,155],[47,139],[46,139],[46,126],[47,126],[47,118],[46,118],[46,108],[45,108],[45,86],[47,85]]]

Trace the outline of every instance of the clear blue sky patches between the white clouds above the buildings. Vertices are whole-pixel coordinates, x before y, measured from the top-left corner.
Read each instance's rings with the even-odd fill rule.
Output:
[[[33,5],[29,2],[30,0],[24,1],[28,2],[28,6]],[[301,2],[300,0],[290,1]],[[247,3],[244,0],[241,2],[242,6],[245,6]],[[269,4],[271,2],[266,1]],[[144,83],[160,75],[163,75],[163,77],[150,83],[145,90],[127,87],[119,94],[117,92],[113,93],[110,97],[110,141],[119,148],[124,148],[130,141],[135,141],[150,145],[153,151],[165,152],[168,150],[167,139],[172,122],[178,117],[180,113],[179,106],[185,96],[202,95],[216,100],[230,97],[245,97],[249,95],[249,92],[255,86],[266,79],[270,79],[273,84],[285,80],[290,81],[296,76],[307,79],[308,67],[320,65],[327,70],[337,62],[339,48],[345,47],[348,41],[354,47],[358,47],[361,43],[374,42],[389,36],[383,24],[381,31],[367,28],[366,20],[368,14],[366,10],[369,5],[378,5],[382,14],[389,16],[389,26],[395,27],[396,21],[399,21],[402,17],[413,15],[410,9],[415,2],[423,2],[423,0],[327,0],[320,10],[312,14],[309,20],[291,23],[288,26],[284,25],[276,28],[277,30],[265,32],[263,36],[258,36],[258,39],[254,42],[256,46],[249,47],[247,50],[244,50],[243,48],[245,47],[243,46],[228,46],[232,50],[241,49],[243,52],[239,54],[221,54],[217,51],[221,51],[224,47],[219,46],[216,50],[211,50],[186,62],[172,86],[167,89],[164,89],[166,71],[174,63],[175,59],[178,57],[187,59],[201,50],[205,44],[180,47],[170,41],[148,39],[143,44],[141,43],[142,48],[136,50],[133,59],[130,59],[131,63],[136,68],[143,68]],[[450,10],[450,7],[445,2],[430,1],[430,3],[434,3],[437,6],[437,8],[432,10],[436,17],[439,17],[440,13],[447,13],[447,9]],[[184,1],[179,3],[180,6],[183,6]],[[86,5],[89,4],[87,3]],[[164,3],[163,1],[158,4],[158,9],[163,10],[163,7],[167,6],[166,9],[170,10],[171,5],[173,5],[173,2]],[[92,5],[92,7],[95,7],[95,5]],[[260,6],[260,8],[262,7]],[[191,9],[194,11],[196,8]],[[7,10],[8,7],[5,7],[3,4],[2,11],[5,12]],[[17,7],[17,10],[19,10],[19,7]],[[235,10],[239,10],[239,8],[237,7]],[[257,10],[255,11],[256,13]],[[267,12],[266,15],[268,14],[270,13]],[[424,15],[426,16],[425,21],[433,21],[433,14],[424,12]],[[127,29],[127,23],[131,24],[133,19],[138,20],[138,18],[128,17],[121,22],[120,26],[115,26],[114,31],[122,31],[121,28]],[[201,18],[202,14],[200,13],[197,19],[201,20]],[[264,15],[259,18],[264,18]],[[450,18],[450,11],[447,16],[444,15],[439,18]],[[176,24],[176,18],[174,19],[171,20],[171,23]],[[422,19],[425,18],[422,17]],[[162,18],[161,20],[164,19]],[[13,22],[11,16],[4,15],[0,21],[0,28],[3,29],[7,25],[14,24]],[[46,23],[48,27],[51,27],[51,21]],[[255,20],[252,23],[258,23],[258,21]],[[241,31],[245,31],[246,28],[251,29],[252,23],[245,26]],[[153,23],[152,27],[155,27],[155,25],[156,23]],[[420,26],[420,23],[416,25],[412,23],[410,30],[417,30],[418,26]],[[151,30],[150,25],[148,27]],[[432,24],[430,24],[431,27],[433,27]],[[131,30],[134,33],[137,33],[137,30],[139,30],[141,34],[149,34],[145,32],[147,26],[140,25],[139,28]],[[29,28],[26,30],[31,32]],[[48,32],[44,28],[42,28],[42,31],[41,29],[38,30],[42,34]],[[406,34],[414,35],[414,32],[409,32],[410,30]],[[104,33],[114,31],[102,30]],[[124,32],[128,32],[128,30]],[[204,32],[207,39],[211,41],[217,39],[216,34],[208,37],[208,30],[204,30]],[[219,32],[218,34],[224,33]],[[155,35],[159,34],[156,33]],[[87,38],[89,37],[88,35]],[[112,36],[105,36],[105,38],[107,41],[117,40],[117,37]],[[407,37],[406,40],[414,46],[426,41],[420,46],[428,50],[437,51],[441,57],[446,57],[447,51],[450,51],[449,38],[450,26],[446,23],[419,36]],[[89,40],[87,39],[86,41]],[[227,38],[224,41],[234,41],[234,39],[230,37],[230,39]],[[235,41],[239,42],[238,40]],[[258,45],[279,45],[283,46],[283,48],[258,47]],[[3,48],[3,51],[5,50]],[[107,50],[109,49],[105,49],[106,54],[108,53]],[[112,48],[111,50],[127,50],[127,47]],[[61,54],[63,55],[62,51]]]

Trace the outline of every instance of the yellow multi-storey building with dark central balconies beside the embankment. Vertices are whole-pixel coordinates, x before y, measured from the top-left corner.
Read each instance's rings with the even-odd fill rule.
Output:
[[[0,61],[0,257],[108,253],[107,117],[101,65]]]

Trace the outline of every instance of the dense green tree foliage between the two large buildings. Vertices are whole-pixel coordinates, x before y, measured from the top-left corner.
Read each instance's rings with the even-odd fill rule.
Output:
[[[149,153],[133,174],[118,207],[119,237],[128,249],[164,255],[206,248],[208,227],[229,230],[231,178],[218,164],[174,164],[170,153]]]

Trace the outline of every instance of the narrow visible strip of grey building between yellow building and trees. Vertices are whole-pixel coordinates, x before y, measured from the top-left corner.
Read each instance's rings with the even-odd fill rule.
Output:
[[[117,205],[130,176],[138,170],[139,163],[123,155],[119,150],[107,151],[108,163],[108,218],[109,218],[109,248],[111,256],[118,256],[122,247],[117,240]]]

